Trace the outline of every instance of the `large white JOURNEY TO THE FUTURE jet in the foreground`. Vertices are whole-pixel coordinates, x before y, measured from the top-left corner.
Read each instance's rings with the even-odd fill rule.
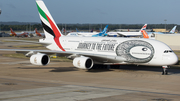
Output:
[[[91,69],[94,64],[120,65],[134,64],[162,66],[166,68],[178,61],[176,54],[164,43],[144,38],[116,37],[68,37],[63,36],[42,0],[36,0],[39,16],[46,38],[39,42],[49,50],[0,49],[1,51],[27,52],[30,62],[47,65],[47,54],[67,56],[73,65],[81,69]]]

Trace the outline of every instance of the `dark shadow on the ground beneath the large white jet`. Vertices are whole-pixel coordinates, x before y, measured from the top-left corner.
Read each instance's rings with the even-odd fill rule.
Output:
[[[168,68],[169,75],[172,74],[180,74],[180,67],[178,68],[176,65],[171,66],[172,68]],[[70,72],[70,71],[80,71],[76,67],[17,67],[19,69],[52,69],[50,72]],[[111,72],[114,70],[129,70],[129,71],[152,71],[152,72],[162,72],[162,67],[154,67],[154,66],[135,66],[135,65],[111,65],[110,67],[106,65],[95,65],[90,70],[84,70],[84,72],[90,73],[98,73],[98,72]]]

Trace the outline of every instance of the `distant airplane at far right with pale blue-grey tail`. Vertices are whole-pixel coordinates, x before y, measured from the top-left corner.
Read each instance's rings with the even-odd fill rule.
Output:
[[[174,27],[172,28],[172,30],[169,31],[168,33],[166,33],[166,32],[147,32],[147,34],[148,34],[148,36],[149,36],[150,38],[154,38],[156,34],[174,34],[175,31],[176,31],[176,27],[177,27],[177,26],[174,26]]]

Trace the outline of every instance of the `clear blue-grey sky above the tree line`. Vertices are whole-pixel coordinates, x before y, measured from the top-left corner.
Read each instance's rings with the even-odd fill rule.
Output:
[[[180,24],[180,0],[43,1],[56,23]],[[35,0],[0,0],[0,9],[0,22],[40,23]]]

